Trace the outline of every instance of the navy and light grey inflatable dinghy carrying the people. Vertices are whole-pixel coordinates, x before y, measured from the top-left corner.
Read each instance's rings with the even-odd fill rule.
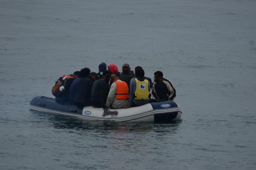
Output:
[[[127,109],[109,109],[107,113],[104,113],[103,108],[93,108],[92,106],[79,108],[73,103],[56,101],[45,96],[36,96],[32,99],[30,109],[76,116],[87,120],[110,120],[116,122],[170,122],[179,120],[182,114],[177,103],[173,101],[153,102]]]

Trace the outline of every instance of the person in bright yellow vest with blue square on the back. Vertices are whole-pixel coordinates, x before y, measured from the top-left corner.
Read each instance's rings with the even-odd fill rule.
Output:
[[[150,82],[144,77],[143,68],[135,70],[135,78],[130,82],[129,107],[145,105],[149,102]]]

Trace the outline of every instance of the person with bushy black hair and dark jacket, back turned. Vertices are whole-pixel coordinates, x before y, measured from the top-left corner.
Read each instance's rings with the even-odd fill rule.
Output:
[[[91,105],[91,91],[93,87],[94,78],[96,73],[90,74],[89,68],[82,68],[80,71],[81,80],[79,81],[74,97],[74,103],[79,106]]]

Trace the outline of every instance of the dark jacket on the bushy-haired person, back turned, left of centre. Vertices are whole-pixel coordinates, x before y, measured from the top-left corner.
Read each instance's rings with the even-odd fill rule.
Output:
[[[76,88],[74,103],[83,106],[91,105],[91,91],[93,82],[93,78],[90,76],[81,78]]]

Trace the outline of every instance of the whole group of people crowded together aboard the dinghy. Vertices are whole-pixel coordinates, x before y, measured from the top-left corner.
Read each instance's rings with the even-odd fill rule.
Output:
[[[175,98],[176,91],[172,82],[163,78],[161,71],[154,73],[153,83],[144,74],[140,66],[135,68],[134,74],[130,65],[125,63],[120,73],[115,64],[108,65],[107,68],[105,62],[102,62],[98,73],[82,68],[60,77],[58,80],[62,83],[57,89],[60,95],[54,95],[56,100],[72,102],[80,107],[92,105],[103,108],[105,112],[109,108],[130,108]]]

